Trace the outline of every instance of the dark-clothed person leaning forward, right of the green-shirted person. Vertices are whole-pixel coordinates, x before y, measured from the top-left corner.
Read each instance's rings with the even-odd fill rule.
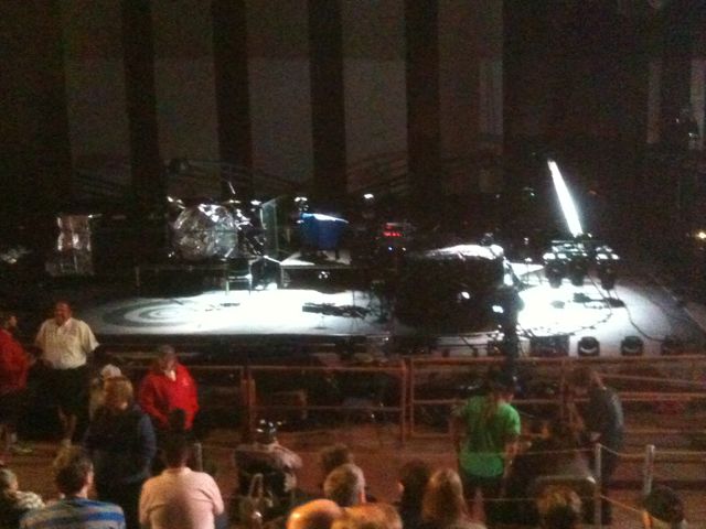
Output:
[[[599,443],[607,450],[601,452],[601,496],[608,497],[610,479],[618,466],[618,452],[623,445],[624,418],[622,404],[618,393],[608,388],[598,371],[588,366],[574,369],[569,376],[569,387],[576,397],[588,397],[588,402],[582,407],[571,407],[578,411],[579,423],[582,430],[584,442],[587,445]],[[591,452],[592,456],[592,452]],[[586,506],[586,515],[592,515],[592,507]],[[601,500],[601,520],[611,522],[611,506],[607,499]]]

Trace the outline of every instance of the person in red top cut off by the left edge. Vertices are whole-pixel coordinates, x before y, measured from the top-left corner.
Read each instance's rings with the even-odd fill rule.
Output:
[[[18,319],[12,312],[0,311],[0,439],[1,460],[13,453],[30,453],[17,442],[17,423],[22,413],[26,392],[30,357],[12,332]]]

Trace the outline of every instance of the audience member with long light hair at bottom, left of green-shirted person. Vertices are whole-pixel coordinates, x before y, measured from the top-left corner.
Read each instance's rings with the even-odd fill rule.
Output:
[[[431,474],[421,505],[424,529],[484,529],[470,521],[463,485],[456,471],[442,468]]]

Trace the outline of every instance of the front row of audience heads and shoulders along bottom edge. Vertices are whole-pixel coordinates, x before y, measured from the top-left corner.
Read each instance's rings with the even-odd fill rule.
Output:
[[[276,517],[259,512],[257,519],[237,519],[228,512],[215,479],[188,466],[191,443],[183,434],[164,440],[165,469],[149,477],[139,492],[137,525],[127,510],[100,500],[96,493],[96,466],[79,446],[64,451],[54,466],[57,498],[46,503],[36,494],[21,492],[9,468],[0,469],[0,527],[34,529],[72,527],[124,529],[483,529],[469,516],[459,474],[442,467],[432,471],[413,460],[399,472],[397,503],[368,501],[363,471],[354,463],[333,468],[323,489],[301,494]],[[339,445],[336,450],[340,450]],[[331,449],[325,449],[325,454]],[[352,457],[352,456],[351,456]],[[350,458],[349,458],[350,461]],[[237,494],[237,486],[235,487]],[[243,493],[242,490],[239,493]],[[96,498],[97,499],[93,499]],[[536,497],[539,529],[580,529],[582,505],[566,485],[550,485]],[[492,526],[488,526],[492,527]],[[684,506],[674,490],[655,486],[644,498],[642,527],[686,527]]]

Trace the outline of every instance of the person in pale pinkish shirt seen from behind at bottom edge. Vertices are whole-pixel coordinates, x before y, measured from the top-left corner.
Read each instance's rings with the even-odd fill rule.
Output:
[[[145,529],[213,529],[226,527],[216,482],[186,466],[191,446],[185,435],[164,440],[167,468],[142,485],[140,526]]]

